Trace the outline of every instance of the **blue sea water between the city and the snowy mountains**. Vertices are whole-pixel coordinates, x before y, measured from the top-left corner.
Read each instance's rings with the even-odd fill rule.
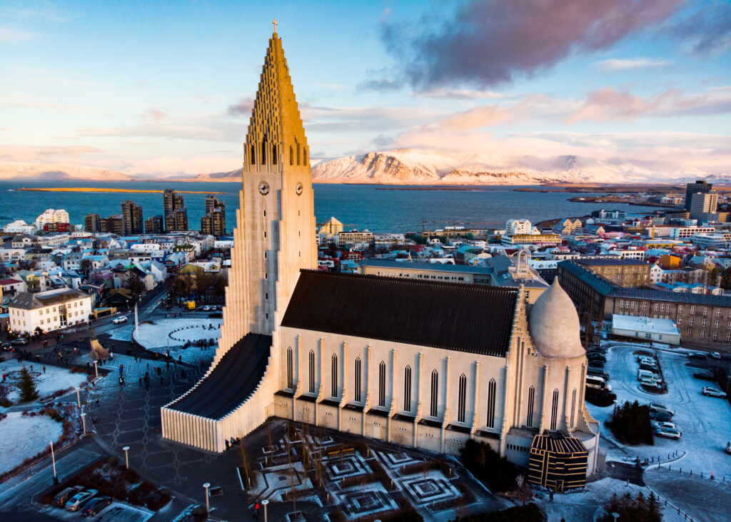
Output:
[[[132,199],[143,207],[143,218],[162,214],[162,193],[103,192],[26,192],[20,187],[96,187],[129,188],[129,183],[0,183],[0,226],[16,219],[34,221],[48,208],[69,212],[72,223],[83,223],[84,216],[98,213],[102,218],[120,214],[121,203]],[[235,226],[239,183],[137,183],[140,190],[216,191],[226,204],[227,229]],[[422,221],[427,229],[462,224],[480,228],[501,228],[510,218],[527,218],[531,222],[588,215],[601,208],[627,212],[652,212],[654,207],[628,204],[593,204],[568,201],[574,194],[515,192],[514,186],[475,187],[470,191],[379,190],[382,185],[314,185],[315,216],[321,223],[335,216],[346,226],[372,232],[418,231]],[[591,195],[591,194],[582,194]],[[200,228],[205,193],[183,194],[189,226]]]

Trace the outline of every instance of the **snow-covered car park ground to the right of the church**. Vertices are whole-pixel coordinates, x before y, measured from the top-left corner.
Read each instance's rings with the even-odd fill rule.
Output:
[[[605,444],[607,460],[623,460],[630,456],[667,458],[675,450],[686,454],[673,464],[694,473],[711,472],[719,479],[726,476],[731,480],[731,456],[724,452],[726,442],[731,440],[731,405],[724,399],[707,397],[700,393],[708,381],[693,377],[693,369],[686,365],[686,352],[673,353],[659,350],[657,356],[667,382],[667,394],[648,394],[637,383],[637,356],[635,346],[615,346],[607,352],[605,370],[610,375],[610,385],[617,394],[617,402],[639,401],[640,404],[659,402],[675,411],[673,423],[682,433],[681,440],[655,437],[654,446],[629,446],[618,448],[612,443]],[[596,407],[587,404],[591,415],[602,423],[602,435],[613,439],[609,429],[603,425],[612,412],[612,407]],[[620,445],[621,446],[621,445]]]

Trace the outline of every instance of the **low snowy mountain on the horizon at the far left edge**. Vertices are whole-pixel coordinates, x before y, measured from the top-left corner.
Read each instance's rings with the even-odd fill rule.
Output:
[[[116,170],[83,165],[42,165],[0,161],[0,180],[128,181],[132,176]]]

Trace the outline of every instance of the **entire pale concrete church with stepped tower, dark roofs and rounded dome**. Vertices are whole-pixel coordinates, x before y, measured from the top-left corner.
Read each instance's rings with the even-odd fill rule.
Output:
[[[164,438],[221,452],[279,417],[439,453],[474,439],[532,467],[554,437],[594,472],[586,353],[558,280],[529,304],[522,286],[317,270],[309,147],[276,31],[236,222],[216,355],[162,407]]]

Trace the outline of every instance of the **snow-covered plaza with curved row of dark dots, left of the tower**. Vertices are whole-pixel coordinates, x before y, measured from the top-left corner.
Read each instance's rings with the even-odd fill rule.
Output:
[[[164,351],[169,346],[180,346],[187,341],[217,340],[221,335],[222,322],[213,318],[159,319],[152,324],[140,324],[135,340],[148,350]],[[113,334],[113,338],[117,337]]]

